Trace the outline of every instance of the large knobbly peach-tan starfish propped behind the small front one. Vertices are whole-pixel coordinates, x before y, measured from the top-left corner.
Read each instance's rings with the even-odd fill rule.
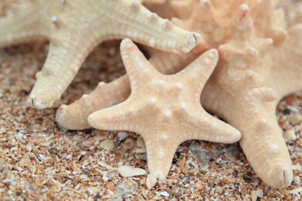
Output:
[[[260,5],[253,4],[253,8],[259,9],[259,7],[265,7],[267,13],[274,16],[276,13],[272,10],[273,5],[268,4],[270,2],[269,0],[264,0]],[[183,23],[180,26],[186,27],[187,25],[186,28],[188,30],[199,32],[194,29],[199,27],[199,23],[206,23],[213,19],[208,18],[208,20],[204,20],[196,18],[195,14],[199,14],[200,16],[202,11],[208,11],[214,14],[212,16],[217,16],[211,3],[203,1],[196,8],[193,16],[187,23]],[[276,12],[284,16],[282,10],[276,10]],[[252,14],[256,18],[259,17],[257,10],[253,11]],[[201,99],[205,109],[219,115],[242,132],[243,137],[240,140],[240,144],[255,172],[267,184],[276,188],[282,188],[290,184],[292,169],[291,161],[276,121],[275,109],[278,100],[284,95],[302,89],[299,64],[302,58],[301,25],[296,24],[286,32],[284,28],[282,30],[282,26],[284,26],[282,20],[280,24],[276,24],[272,16],[265,16],[266,21],[270,21],[266,26],[272,30],[266,34],[269,34],[268,37],[273,37],[275,41],[272,39],[261,40],[254,36],[254,34],[260,34],[260,37],[266,37],[266,34],[259,32],[263,24],[257,24],[256,27],[253,27],[247,5],[240,7],[237,16],[229,23],[230,26],[226,26],[225,28],[212,26],[216,27],[215,29],[223,28],[222,31],[217,31],[222,34],[222,37],[217,37],[216,39],[219,40],[214,40],[217,41],[215,43],[205,40],[206,47],[218,46],[223,43],[228,43],[228,45],[220,46],[219,51],[221,54],[223,53],[222,58],[205,85]],[[277,18],[276,20],[280,19]],[[299,22],[298,19],[295,20]],[[258,21],[260,20],[258,19]],[[190,24],[194,25],[194,27],[188,26]],[[201,30],[200,33],[203,38],[210,37],[206,36],[205,31]],[[230,37],[230,39],[226,40],[224,39],[225,37]],[[265,46],[267,42],[273,42],[273,44]],[[225,55],[224,52],[226,53]],[[174,73],[182,69],[184,67],[183,64],[190,63],[194,59],[193,53],[191,56],[190,54],[186,55],[186,58],[181,58],[170,53],[161,53],[152,59],[154,59],[161,72]],[[250,78],[244,77],[247,75]],[[236,87],[239,81],[246,87]],[[123,83],[123,86],[119,89],[115,88],[115,86],[120,86],[119,83]],[[127,91],[126,87],[129,87],[129,82],[127,77],[124,76],[107,86],[112,91]],[[94,105],[95,110],[85,107],[81,98],[70,106],[62,106],[61,110],[57,113],[57,121],[60,124],[64,124],[64,122],[70,123],[66,124],[70,129],[80,128],[80,125],[89,128],[87,121],[85,121],[89,113],[109,107],[110,105],[108,102],[106,103],[106,99],[112,100],[116,96],[106,96],[106,99],[102,102],[100,101],[101,95],[97,95],[98,90],[96,89],[93,94],[87,96],[90,103]],[[128,88],[128,93],[124,98],[120,97],[120,99],[126,99],[129,93],[130,88]],[[98,103],[96,100],[98,100]],[[102,104],[99,104],[100,102]],[[82,114],[75,111],[81,111]],[[77,113],[77,117],[68,115],[75,113]],[[66,115],[66,119],[71,119],[68,121],[64,120],[63,114]],[[71,124],[72,119],[78,120],[75,121],[78,126]],[[259,122],[257,123],[256,121]],[[255,150],[257,150],[256,154]],[[283,164],[281,165],[281,163]]]

